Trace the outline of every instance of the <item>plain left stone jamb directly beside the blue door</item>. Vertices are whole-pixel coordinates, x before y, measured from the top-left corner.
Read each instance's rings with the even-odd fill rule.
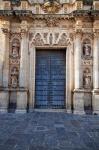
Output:
[[[30,99],[29,99],[29,111],[33,111],[35,105],[35,56],[36,49],[33,45],[30,45]]]

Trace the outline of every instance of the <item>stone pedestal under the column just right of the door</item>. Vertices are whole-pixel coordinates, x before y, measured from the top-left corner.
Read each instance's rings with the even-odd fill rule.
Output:
[[[84,92],[80,89],[74,90],[74,114],[85,114],[84,112]]]

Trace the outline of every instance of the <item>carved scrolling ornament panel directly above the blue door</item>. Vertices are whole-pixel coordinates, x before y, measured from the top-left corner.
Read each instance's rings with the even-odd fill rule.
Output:
[[[31,46],[68,46],[71,39],[66,33],[30,33]]]

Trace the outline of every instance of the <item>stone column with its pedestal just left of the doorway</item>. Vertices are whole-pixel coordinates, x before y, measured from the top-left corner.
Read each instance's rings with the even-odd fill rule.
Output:
[[[26,30],[21,32],[19,91],[17,92],[16,112],[26,112],[28,103],[28,36]]]

